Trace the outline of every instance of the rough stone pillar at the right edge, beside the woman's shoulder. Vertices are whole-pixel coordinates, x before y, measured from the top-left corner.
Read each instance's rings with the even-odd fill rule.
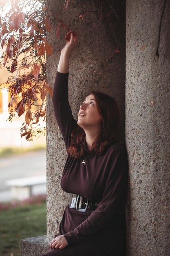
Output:
[[[163,2],[126,1],[128,256],[170,255],[170,1],[164,12]]]

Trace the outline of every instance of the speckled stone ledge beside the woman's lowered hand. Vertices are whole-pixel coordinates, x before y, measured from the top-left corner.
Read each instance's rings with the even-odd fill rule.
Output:
[[[20,256],[39,256],[46,252],[48,247],[46,236],[25,238],[20,241]]]

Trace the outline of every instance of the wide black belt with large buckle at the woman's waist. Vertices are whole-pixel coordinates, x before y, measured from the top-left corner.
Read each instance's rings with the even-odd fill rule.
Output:
[[[98,202],[94,202],[82,195],[71,194],[69,208],[74,208],[76,211],[86,212],[87,209],[95,211],[97,209]]]

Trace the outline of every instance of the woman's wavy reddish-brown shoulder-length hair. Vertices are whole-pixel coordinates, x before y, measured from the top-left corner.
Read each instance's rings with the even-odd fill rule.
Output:
[[[91,150],[88,150],[84,130],[80,126],[73,130],[68,153],[76,159],[82,159],[89,154],[102,155],[108,146],[120,140],[120,111],[117,102],[102,92],[91,91],[88,95],[90,94],[94,95],[98,111],[102,116],[101,129]]]

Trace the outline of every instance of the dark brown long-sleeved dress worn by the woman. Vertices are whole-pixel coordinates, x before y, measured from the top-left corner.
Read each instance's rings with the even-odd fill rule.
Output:
[[[57,72],[53,91],[55,117],[66,149],[71,143],[71,132],[77,126],[68,103],[68,74]],[[86,159],[86,157],[85,157]],[[83,159],[68,155],[61,178],[67,193],[83,195],[99,202],[95,211],[85,213],[66,207],[60,223],[59,235],[64,235],[68,246],[51,249],[48,256],[125,256],[125,203],[128,185],[126,148],[112,144],[104,155]]]

